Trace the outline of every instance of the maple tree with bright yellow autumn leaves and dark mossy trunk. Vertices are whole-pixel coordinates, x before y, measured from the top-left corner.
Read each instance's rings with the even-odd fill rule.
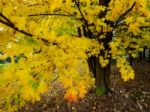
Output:
[[[94,82],[107,93],[112,59],[124,81],[134,79],[126,55],[149,46],[149,2],[0,0],[0,59],[11,58],[0,69],[1,110],[39,101],[56,80],[69,102]]]

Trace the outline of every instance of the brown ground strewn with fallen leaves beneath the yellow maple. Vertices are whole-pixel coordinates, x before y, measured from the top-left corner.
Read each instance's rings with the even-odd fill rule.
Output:
[[[93,92],[74,104],[62,95],[45,95],[40,102],[25,106],[21,112],[150,112],[150,62],[134,61],[134,80],[123,82],[116,67],[111,71],[112,93],[99,96]]]

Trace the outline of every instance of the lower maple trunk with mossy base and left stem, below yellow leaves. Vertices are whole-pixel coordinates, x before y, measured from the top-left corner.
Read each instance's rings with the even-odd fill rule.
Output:
[[[88,59],[88,65],[96,80],[96,93],[103,95],[110,92],[111,58],[109,59],[109,64],[106,67],[102,67],[99,58],[92,56]]]

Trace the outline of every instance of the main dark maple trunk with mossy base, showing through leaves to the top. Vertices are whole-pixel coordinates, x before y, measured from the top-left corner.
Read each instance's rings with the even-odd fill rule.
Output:
[[[99,0],[99,5],[108,6],[108,3],[110,0]],[[106,15],[106,12],[99,14],[99,18],[102,18]],[[113,26],[113,23],[110,21],[106,21],[106,24],[109,24],[110,26]],[[103,31],[100,32],[100,34],[103,34]],[[107,32],[106,38],[104,39],[98,39],[99,43],[104,43],[105,50],[102,50],[100,53],[100,56],[105,57],[105,52],[110,51],[109,42],[112,40],[113,33]],[[111,68],[111,54],[110,58],[107,58],[109,60],[109,64],[106,67],[102,67],[99,62],[99,57],[96,58],[96,93],[97,94],[106,94],[110,91],[110,68]]]

